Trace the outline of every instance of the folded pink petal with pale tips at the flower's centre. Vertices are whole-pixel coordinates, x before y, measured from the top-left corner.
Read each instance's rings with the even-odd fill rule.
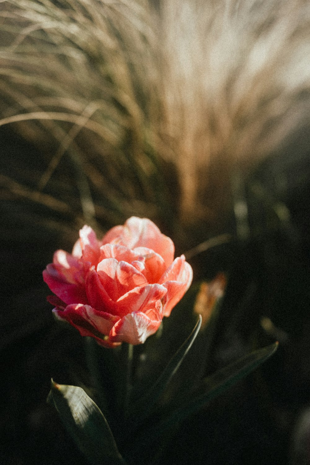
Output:
[[[121,296],[137,286],[145,286],[145,276],[134,266],[116,259],[104,259],[97,266],[100,282],[112,300]]]

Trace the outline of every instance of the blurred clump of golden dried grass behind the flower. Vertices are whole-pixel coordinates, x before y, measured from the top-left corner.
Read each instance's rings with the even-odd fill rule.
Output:
[[[7,0],[0,126],[40,147],[38,193],[71,160],[97,229],[212,222],[236,169],[309,126],[309,27],[298,0]]]

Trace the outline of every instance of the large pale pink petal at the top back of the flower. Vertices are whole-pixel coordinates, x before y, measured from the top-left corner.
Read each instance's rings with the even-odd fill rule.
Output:
[[[129,249],[147,247],[164,259],[166,267],[171,265],[174,257],[172,240],[162,234],[150,219],[141,219],[136,216],[127,219],[124,226],[115,226],[108,231],[102,243],[119,244]]]

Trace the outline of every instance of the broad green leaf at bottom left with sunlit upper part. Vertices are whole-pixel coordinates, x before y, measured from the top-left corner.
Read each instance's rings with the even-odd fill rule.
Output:
[[[52,379],[47,401],[56,407],[67,431],[91,464],[125,464],[104,415],[81,387],[59,385]]]

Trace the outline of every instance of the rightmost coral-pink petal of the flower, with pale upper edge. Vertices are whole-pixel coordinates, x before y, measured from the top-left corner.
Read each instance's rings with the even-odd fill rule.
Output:
[[[182,299],[191,285],[193,271],[191,265],[185,261],[184,255],[174,260],[160,279],[160,283],[166,287],[163,302],[163,314],[168,317],[174,306]]]

